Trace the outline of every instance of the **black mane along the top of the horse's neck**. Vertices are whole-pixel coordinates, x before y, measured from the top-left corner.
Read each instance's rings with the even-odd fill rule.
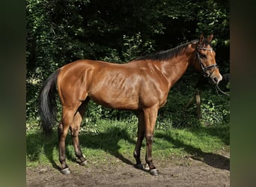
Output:
[[[156,52],[154,54],[140,56],[140,57],[136,58],[135,61],[140,61],[140,60],[165,61],[165,60],[174,58],[177,55],[180,55],[181,52],[184,52],[183,49],[186,49],[186,47],[189,46],[189,44],[195,43],[195,42],[198,42],[198,40],[192,40],[190,42],[180,44],[180,46],[176,46],[173,49],[168,49],[166,51]]]

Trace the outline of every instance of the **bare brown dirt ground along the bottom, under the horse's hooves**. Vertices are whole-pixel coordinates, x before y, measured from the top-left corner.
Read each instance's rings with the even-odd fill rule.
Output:
[[[168,161],[154,159],[159,171],[151,176],[146,171],[118,160],[118,164],[80,166],[68,162],[71,174],[61,174],[49,166],[27,168],[27,186],[230,186],[230,156],[223,152],[187,156]]]

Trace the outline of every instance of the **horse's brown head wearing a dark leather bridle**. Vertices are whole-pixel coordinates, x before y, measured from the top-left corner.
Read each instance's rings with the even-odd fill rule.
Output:
[[[219,68],[215,60],[215,52],[210,46],[211,41],[213,40],[213,34],[209,37],[204,38],[201,35],[198,43],[195,43],[195,68],[205,77],[208,77],[213,84],[218,85],[222,80],[222,75],[219,73]]]

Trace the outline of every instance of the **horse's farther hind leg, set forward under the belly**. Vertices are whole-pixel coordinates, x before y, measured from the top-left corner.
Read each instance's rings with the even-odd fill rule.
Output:
[[[82,117],[85,114],[85,108],[88,104],[89,99],[86,99],[82,105],[79,106],[79,109],[76,111],[76,114],[73,118],[73,123],[70,126],[70,131],[73,140],[73,146],[75,149],[76,157],[80,160],[80,165],[86,165],[87,161],[85,157],[82,155],[82,150],[79,145],[79,129],[82,122]]]

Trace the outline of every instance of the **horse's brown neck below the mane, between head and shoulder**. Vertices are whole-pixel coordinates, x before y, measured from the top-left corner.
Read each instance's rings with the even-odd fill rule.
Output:
[[[171,88],[172,85],[174,85],[174,83],[186,72],[191,57],[192,54],[184,54],[162,62],[162,73],[169,82],[169,88]]]

